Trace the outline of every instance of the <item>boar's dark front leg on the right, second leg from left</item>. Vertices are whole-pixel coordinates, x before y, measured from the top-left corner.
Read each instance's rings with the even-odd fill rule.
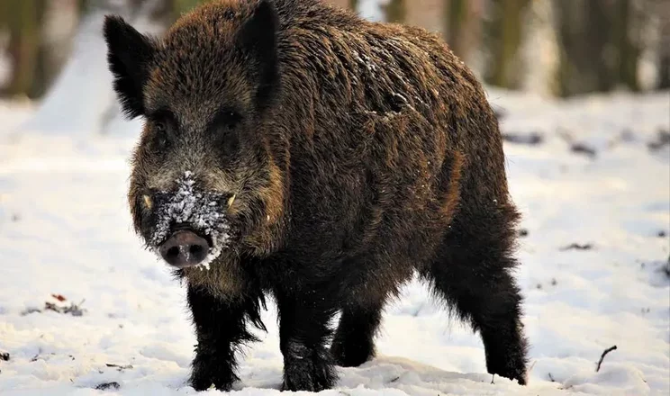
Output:
[[[321,290],[305,293],[276,293],[279,309],[279,345],[284,355],[283,391],[319,392],[337,381],[330,351],[333,309]]]

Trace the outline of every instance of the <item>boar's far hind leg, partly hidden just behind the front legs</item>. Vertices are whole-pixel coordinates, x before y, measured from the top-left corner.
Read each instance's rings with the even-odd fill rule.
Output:
[[[356,367],[375,356],[375,334],[382,320],[383,301],[345,305],[330,353],[338,365]]]

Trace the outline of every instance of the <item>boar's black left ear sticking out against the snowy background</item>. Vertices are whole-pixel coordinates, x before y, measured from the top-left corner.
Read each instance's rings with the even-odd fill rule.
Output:
[[[114,91],[129,118],[144,115],[142,87],[149,76],[149,62],[156,48],[149,37],[136,31],[120,16],[105,16],[107,63],[114,76]]]

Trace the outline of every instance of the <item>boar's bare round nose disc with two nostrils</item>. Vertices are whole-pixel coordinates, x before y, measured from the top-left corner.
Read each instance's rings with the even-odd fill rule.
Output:
[[[163,242],[160,256],[171,266],[197,266],[209,252],[209,243],[191,229],[180,229]]]

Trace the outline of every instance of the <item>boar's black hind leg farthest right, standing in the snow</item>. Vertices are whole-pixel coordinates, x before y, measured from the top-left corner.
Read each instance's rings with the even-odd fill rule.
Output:
[[[527,341],[521,324],[521,294],[512,278],[513,233],[495,217],[452,225],[439,258],[424,274],[461,320],[478,330],[489,374],[526,383]],[[475,224],[482,229],[473,229]],[[485,226],[484,226],[485,225]]]

